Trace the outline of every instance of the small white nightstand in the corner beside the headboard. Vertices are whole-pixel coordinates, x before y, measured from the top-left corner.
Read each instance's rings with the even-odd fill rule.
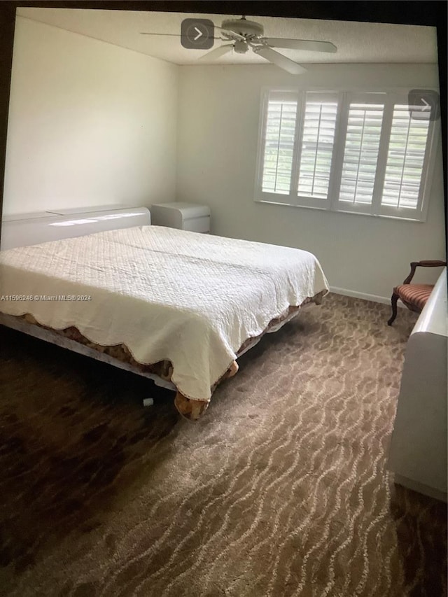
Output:
[[[195,203],[158,203],[151,206],[151,222],[191,232],[210,232],[210,209]]]

